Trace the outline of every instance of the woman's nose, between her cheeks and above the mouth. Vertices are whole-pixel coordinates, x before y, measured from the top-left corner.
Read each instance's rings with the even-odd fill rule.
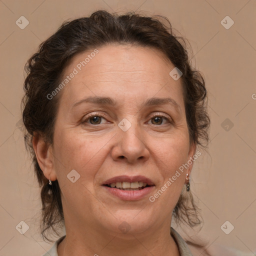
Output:
[[[149,158],[146,134],[135,122],[126,131],[118,127],[115,137],[115,145],[111,151],[113,160],[136,163],[146,161]]]

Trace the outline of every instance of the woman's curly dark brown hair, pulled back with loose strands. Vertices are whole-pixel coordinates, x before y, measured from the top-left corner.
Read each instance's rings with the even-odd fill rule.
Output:
[[[43,239],[48,241],[51,240],[45,232],[51,230],[58,235],[58,225],[63,224],[61,192],[57,180],[48,185],[48,180],[38,165],[32,139],[40,134],[45,142],[52,143],[60,93],[51,100],[47,95],[57,87],[64,68],[72,58],[83,51],[111,43],[158,49],[181,70],[189,140],[203,148],[208,142],[210,120],[206,111],[204,79],[199,71],[191,67],[186,42],[183,37],[174,34],[166,17],[148,17],[134,12],[117,15],[98,10],[89,17],[63,22],[26,62],[27,76],[23,85],[25,95],[22,98],[22,117],[26,128],[25,145],[27,150],[30,150],[37,180],[41,186],[41,234]],[[189,191],[180,194],[173,209],[173,216],[177,222],[181,221],[193,227],[201,223],[198,210]]]

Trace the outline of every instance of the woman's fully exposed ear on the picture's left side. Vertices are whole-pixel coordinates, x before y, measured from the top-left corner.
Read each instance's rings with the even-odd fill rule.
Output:
[[[43,137],[38,133],[33,135],[32,144],[37,162],[43,171],[44,176],[52,181],[56,180],[57,177],[54,168],[52,146],[45,142]]]

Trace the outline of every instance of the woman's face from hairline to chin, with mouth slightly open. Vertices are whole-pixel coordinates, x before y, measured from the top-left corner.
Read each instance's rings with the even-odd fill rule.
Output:
[[[170,224],[192,167],[179,171],[195,150],[181,79],[169,75],[174,66],[155,49],[97,50],[76,55],[64,70],[48,178],[58,179],[66,228],[154,231]]]

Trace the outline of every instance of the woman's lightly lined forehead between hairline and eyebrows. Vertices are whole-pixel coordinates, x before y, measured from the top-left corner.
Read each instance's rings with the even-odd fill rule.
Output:
[[[61,101],[72,104],[88,95],[112,96],[117,101],[170,95],[182,101],[181,79],[169,75],[173,67],[162,52],[150,47],[119,44],[87,50],[65,68],[62,80],[75,75],[62,89]]]

